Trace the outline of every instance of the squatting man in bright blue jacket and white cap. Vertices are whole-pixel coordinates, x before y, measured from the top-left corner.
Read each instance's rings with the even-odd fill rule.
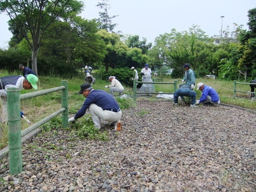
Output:
[[[220,104],[218,93],[210,86],[204,85],[203,83],[198,83],[197,90],[202,91],[202,96],[200,100],[196,101],[196,105],[200,103],[208,103],[215,105]]]

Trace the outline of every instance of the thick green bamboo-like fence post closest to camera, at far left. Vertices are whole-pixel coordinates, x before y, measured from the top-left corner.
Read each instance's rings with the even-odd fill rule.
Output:
[[[10,174],[22,172],[20,89],[6,88]]]

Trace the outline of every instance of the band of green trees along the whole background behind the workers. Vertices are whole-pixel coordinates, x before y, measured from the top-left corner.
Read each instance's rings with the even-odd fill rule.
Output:
[[[107,2],[98,2],[103,10],[98,19],[87,20],[79,16],[85,5],[78,0],[0,0],[0,11],[9,15],[13,34],[8,49],[0,50],[1,68],[16,70],[30,58],[36,74],[72,76],[86,64],[108,72],[141,69],[148,63],[154,71],[172,68],[171,76],[179,78],[182,66],[190,63],[197,77],[256,77],[256,8],[248,10],[249,30],[234,24],[232,31],[223,31],[218,45],[200,26],[192,25],[188,31],[160,34],[153,46],[138,35],[114,32],[116,16],[109,16]]]

